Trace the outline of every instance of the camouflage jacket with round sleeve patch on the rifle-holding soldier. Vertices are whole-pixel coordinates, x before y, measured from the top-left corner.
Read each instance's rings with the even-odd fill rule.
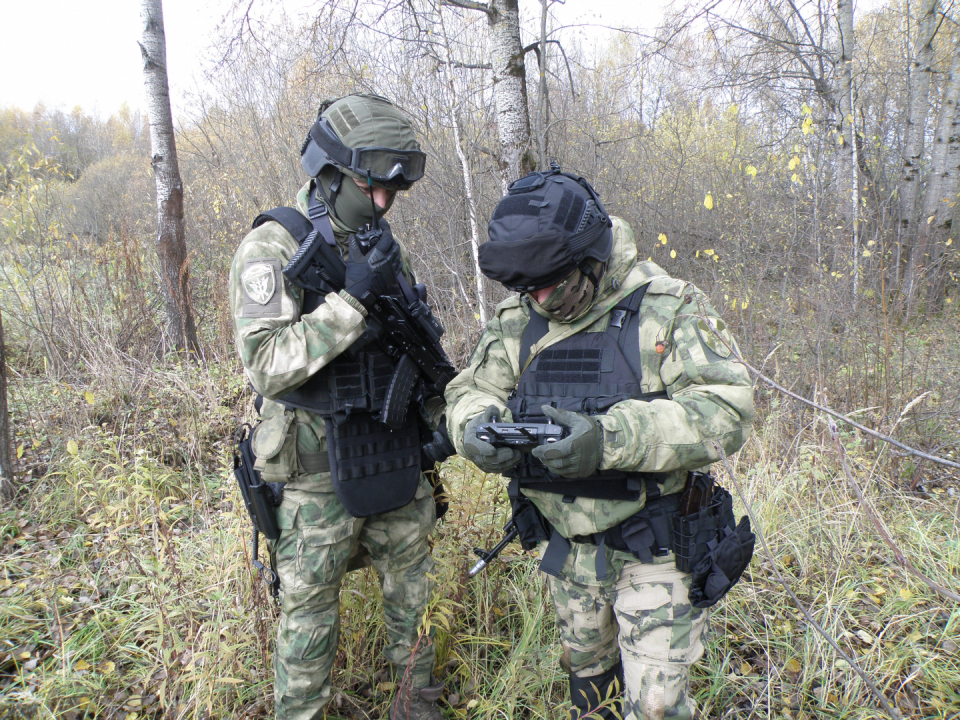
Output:
[[[308,191],[309,184],[297,194],[296,207],[304,214]],[[335,221],[333,227],[341,255],[346,257],[348,232]],[[328,472],[306,472],[297,462],[297,455],[319,457],[321,462],[326,456],[323,418],[306,410],[285,409],[275,400],[350,347],[366,329],[366,310],[340,291],[328,294],[313,312],[301,314],[303,291],[281,272],[298,247],[297,240],[276,222],[264,223],[243,238],[230,266],[234,339],[247,379],[265,398],[261,419],[277,426],[277,432],[261,432],[261,437],[254,438],[258,457],[272,455],[265,464],[258,460],[258,469],[269,482],[308,483],[311,489],[321,483],[332,489]],[[401,255],[404,275],[413,285],[410,259],[402,245]],[[429,404],[431,417],[439,417],[442,405],[440,398]],[[265,450],[268,442],[277,447]]]

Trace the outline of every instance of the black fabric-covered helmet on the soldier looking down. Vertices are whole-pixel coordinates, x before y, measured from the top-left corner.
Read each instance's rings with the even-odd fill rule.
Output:
[[[480,246],[480,270],[510,290],[530,292],[570,275],[586,258],[606,262],[612,223],[593,187],[560,172],[526,175],[507,188]]]

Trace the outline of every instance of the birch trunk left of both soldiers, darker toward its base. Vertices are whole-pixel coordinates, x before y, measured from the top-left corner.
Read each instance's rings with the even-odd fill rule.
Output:
[[[199,352],[197,329],[190,299],[190,272],[184,242],[183,182],[177,163],[167,51],[161,0],[142,0],[143,79],[150,117],[151,165],[157,184],[157,255],[160,289],[167,312],[167,335],[178,350]]]

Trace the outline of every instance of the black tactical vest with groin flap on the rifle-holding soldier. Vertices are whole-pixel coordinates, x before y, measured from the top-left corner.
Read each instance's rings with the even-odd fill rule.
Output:
[[[279,207],[258,216],[253,226],[272,220],[301,244],[316,232],[328,245],[336,246],[326,206],[312,188],[309,197],[309,219],[293,208]],[[321,289],[339,292],[341,288],[324,282]],[[324,294],[304,290],[301,314],[313,312],[324,302]],[[396,363],[368,335],[369,331],[303,385],[277,398],[285,407],[308,410],[324,419],[334,491],[354,517],[403,507],[413,500],[420,481],[422,390],[414,392],[406,422],[397,428],[381,422]]]

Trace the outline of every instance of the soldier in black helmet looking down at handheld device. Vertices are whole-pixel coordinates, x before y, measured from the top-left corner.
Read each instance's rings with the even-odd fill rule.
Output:
[[[704,294],[637,262],[630,227],[558,170],[514,183],[490,222],[481,269],[521,294],[448,386],[448,427],[461,455],[510,477],[521,538],[539,541],[571,718],[690,718],[708,611],[652,529],[688,471],[718,459],[712,442],[746,441],[752,384]],[[476,429],[497,416],[568,435],[532,455],[494,447]]]

